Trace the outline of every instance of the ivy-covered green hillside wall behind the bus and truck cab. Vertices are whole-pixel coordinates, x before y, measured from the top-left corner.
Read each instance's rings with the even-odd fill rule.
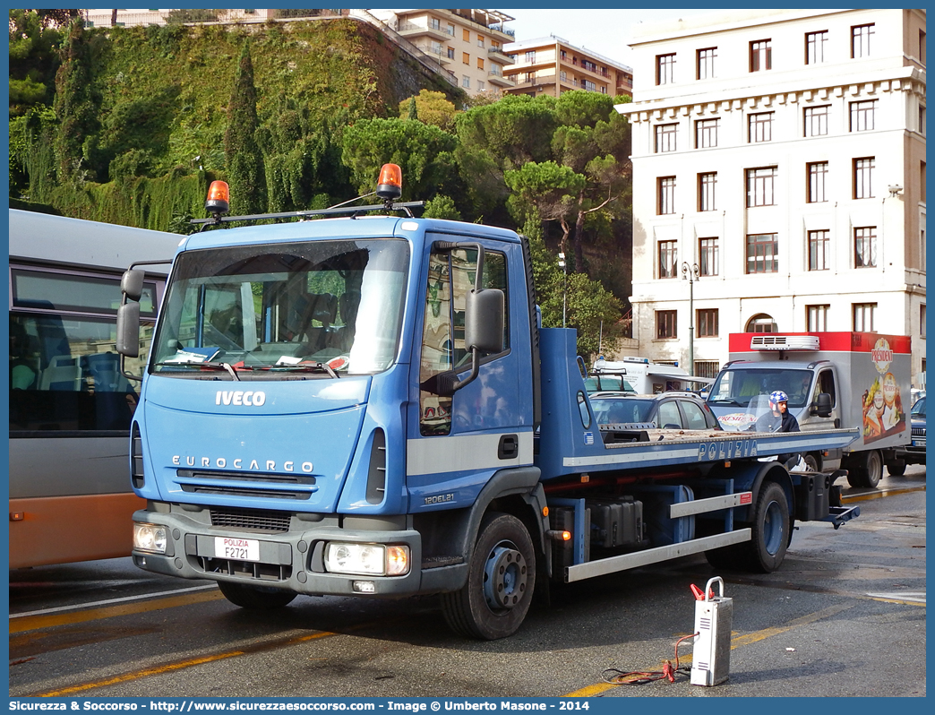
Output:
[[[76,23],[63,43],[53,110],[37,104],[11,118],[11,196],[160,230],[202,215],[207,182],[230,170],[225,135],[228,152],[238,151],[231,137],[243,135],[228,133],[228,120],[241,116],[229,109],[244,99],[245,56],[264,211],[352,196],[341,139],[355,122],[396,116],[399,103],[423,88],[463,101],[362,22],[90,30]]]

